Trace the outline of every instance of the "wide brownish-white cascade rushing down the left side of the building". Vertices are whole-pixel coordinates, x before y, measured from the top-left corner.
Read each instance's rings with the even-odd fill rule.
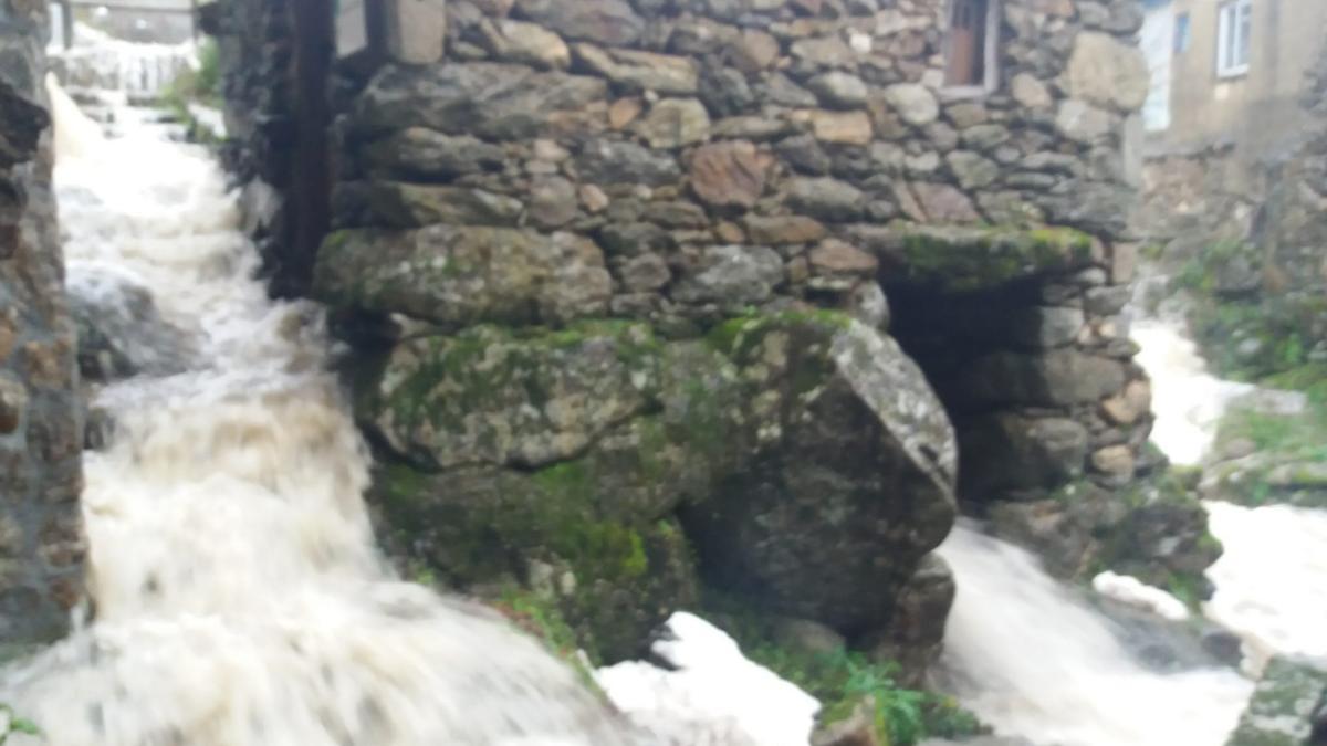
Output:
[[[633,742],[537,642],[391,576],[322,315],[267,299],[208,155],[149,126],[104,141],[53,94],[74,292],[147,288],[194,356],[100,392],[96,621],[0,673],[0,701],[58,746]]]

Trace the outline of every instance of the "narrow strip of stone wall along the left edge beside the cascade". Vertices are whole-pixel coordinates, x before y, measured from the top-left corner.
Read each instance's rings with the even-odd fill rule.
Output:
[[[0,0],[0,657],[81,597],[82,429],[42,108],[46,4]]]

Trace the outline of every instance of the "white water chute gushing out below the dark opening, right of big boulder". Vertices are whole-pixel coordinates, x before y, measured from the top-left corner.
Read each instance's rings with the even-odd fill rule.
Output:
[[[959,526],[940,548],[958,596],[942,669],[998,733],[1056,746],[1221,746],[1253,684],[1156,673],[1031,554]]]

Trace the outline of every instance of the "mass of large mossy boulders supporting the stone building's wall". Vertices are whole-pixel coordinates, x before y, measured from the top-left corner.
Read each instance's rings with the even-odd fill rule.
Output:
[[[544,585],[608,660],[694,600],[697,559],[759,608],[886,627],[954,520],[940,402],[836,313],[437,329],[364,364],[356,401],[394,543],[455,587]]]

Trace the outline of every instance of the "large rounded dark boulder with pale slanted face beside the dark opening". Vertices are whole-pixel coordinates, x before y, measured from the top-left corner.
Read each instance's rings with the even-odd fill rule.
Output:
[[[739,319],[710,341],[742,372],[754,438],[683,512],[710,579],[844,632],[885,623],[955,514],[954,433],[921,370],[836,315]]]

